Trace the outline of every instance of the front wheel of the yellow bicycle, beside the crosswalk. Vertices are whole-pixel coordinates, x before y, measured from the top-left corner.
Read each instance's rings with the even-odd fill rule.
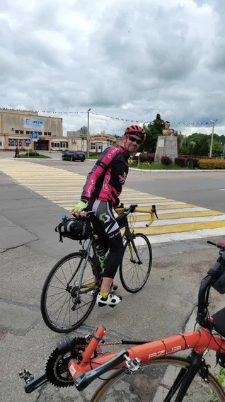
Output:
[[[152,251],[149,239],[141,233],[133,235],[133,241],[137,248],[134,251],[131,241],[125,243],[125,250],[120,263],[120,280],[122,286],[130,293],[137,293],[142,289],[149,277],[152,264]]]

